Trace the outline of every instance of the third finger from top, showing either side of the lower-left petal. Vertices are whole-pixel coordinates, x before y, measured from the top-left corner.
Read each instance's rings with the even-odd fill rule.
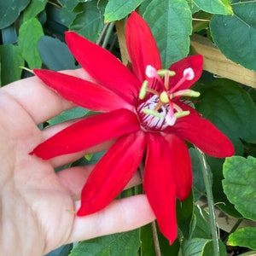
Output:
[[[90,166],[76,166],[67,168],[61,172],[57,172],[57,176],[60,178],[60,182],[70,191],[73,196],[73,200],[79,200],[81,191],[84,187],[84,183],[90,175],[95,165]],[[131,178],[130,182],[127,183],[125,189],[129,189],[138,184],[142,183],[139,172],[136,172]]]

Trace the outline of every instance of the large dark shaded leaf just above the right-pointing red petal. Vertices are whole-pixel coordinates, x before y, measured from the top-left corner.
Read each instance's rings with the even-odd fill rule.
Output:
[[[246,90],[228,79],[216,79],[201,92],[196,109],[230,137],[236,154],[243,153],[241,139],[256,137],[256,108]]]

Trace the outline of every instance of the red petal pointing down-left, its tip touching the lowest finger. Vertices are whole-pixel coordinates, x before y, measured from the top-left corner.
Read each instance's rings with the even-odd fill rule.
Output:
[[[140,131],[120,137],[108,149],[84,185],[78,216],[102,210],[119,195],[141,163],[145,144]]]

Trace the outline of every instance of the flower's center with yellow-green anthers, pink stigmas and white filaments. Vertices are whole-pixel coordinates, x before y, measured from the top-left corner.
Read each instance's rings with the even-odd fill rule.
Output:
[[[148,80],[143,82],[139,92],[140,104],[137,107],[137,114],[141,125],[146,131],[163,131],[168,125],[175,125],[178,118],[189,115],[189,111],[183,111],[178,106],[177,100],[182,96],[200,96],[195,90],[177,90],[186,80],[195,77],[192,68],[183,71],[183,77],[177,84],[169,89],[169,81],[175,75],[168,69],[155,70],[154,67],[146,68]],[[149,85],[150,81],[150,85]],[[160,91],[155,90],[153,84],[160,84]]]

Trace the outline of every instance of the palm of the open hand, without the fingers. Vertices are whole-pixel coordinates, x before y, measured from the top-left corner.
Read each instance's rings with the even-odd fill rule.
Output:
[[[2,214],[6,218],[2,218],[3,234],[21,240],[21,244],[30,242],[27,247],[38,249],[34,255],[40,255],[44,247],[56,247],[67,241],[73,227],[74,214],[68,212],[73,210],[73,200],[55,175],[53,166],[28,154],[42,136],[31,116],[7,97],[1,102],[4,110],[0,113],[0,144],[5,161],[0,187],[3,188],[3,204],[8,206],[3,205]],[[19,230],[18,234],[7,230],[9,218],[11,228],[15,232]],[[32,237],[33,241],[27,237]],[[29,251],[20,255],[23,253],[30,255]]]

